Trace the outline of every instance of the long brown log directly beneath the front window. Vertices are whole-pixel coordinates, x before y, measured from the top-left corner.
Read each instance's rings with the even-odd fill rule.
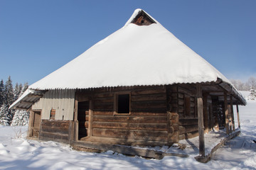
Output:
[[[94,122],[166,123],[166,116],[94,115]]]

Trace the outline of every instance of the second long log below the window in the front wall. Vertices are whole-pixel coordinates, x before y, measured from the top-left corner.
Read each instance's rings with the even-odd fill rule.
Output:
[[[92,128],[126,129],[126,130],[167,130],[166,123],[103,123],[94,122]]]

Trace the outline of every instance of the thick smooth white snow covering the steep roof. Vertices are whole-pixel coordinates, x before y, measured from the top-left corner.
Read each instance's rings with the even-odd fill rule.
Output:
[[[106,86],[230,82],[156,20],[149,26],[129,21],[29,89],[87,89]],[[154,19],[154,18],[152,18]]]

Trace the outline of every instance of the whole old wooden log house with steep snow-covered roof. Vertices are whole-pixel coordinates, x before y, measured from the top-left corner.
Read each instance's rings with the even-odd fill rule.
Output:
[[[203,154],[203,134],[235,130],[233,105],[245,104],[223,74],[137,9],[10,108],[30,111],[28,136],[40,140],[172,145],[199,136]]]

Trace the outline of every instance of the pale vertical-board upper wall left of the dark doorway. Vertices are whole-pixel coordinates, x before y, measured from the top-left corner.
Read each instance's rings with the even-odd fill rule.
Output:
[[[42,110],[42,119],[50,119],[50,111],[55,109],[55,120],[73,120],[75,90],[49,90],[33,104],[32,110]]]

